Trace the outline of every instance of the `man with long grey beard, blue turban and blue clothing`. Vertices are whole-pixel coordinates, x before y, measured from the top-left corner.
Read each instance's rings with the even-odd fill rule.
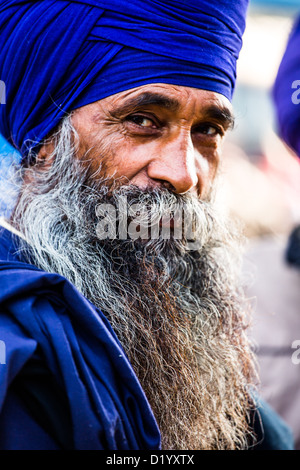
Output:
[[[290,446],[272,413],[257,426],[236,235],[213,202],[246,8],[1,2],[1,131],[22,154],[2,448]]]

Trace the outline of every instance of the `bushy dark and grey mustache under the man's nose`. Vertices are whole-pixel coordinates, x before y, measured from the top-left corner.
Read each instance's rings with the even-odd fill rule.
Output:
[[[198,250],[215,219],[211,200],[167,188],[120,185],[105,191],[97,181],[95,196],[91,210],[99,240],[179,240],[188,250]]]

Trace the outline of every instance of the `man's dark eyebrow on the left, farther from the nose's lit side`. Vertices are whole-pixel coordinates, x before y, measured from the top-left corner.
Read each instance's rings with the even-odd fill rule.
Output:
[[[110,110],[112,116],[119,116],[142,108],[144,106],[156,105],[162,108],[176,111],[180,104],[175,98],[169,98],[160,93],[144,92],[138,96],[126,100],[124,103]]]

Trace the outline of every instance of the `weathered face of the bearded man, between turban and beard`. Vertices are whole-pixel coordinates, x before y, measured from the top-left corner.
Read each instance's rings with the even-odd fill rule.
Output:
[[[166,187],[205,198],[233,117],[222,95],[151,84],[84,106],[72,123],[92,171],[102,165],[106,176],[140,189]]]

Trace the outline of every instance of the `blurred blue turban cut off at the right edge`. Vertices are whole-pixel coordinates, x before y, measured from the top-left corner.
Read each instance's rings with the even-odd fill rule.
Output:
[[[279,66],[273,97],[279,135],[300,157],[300,18]]]

